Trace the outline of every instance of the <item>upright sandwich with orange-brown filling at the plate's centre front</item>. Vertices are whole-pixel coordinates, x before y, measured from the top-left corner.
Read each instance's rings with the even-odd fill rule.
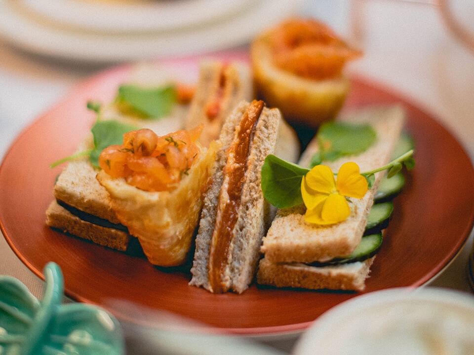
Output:
[[[205,193],[191,285],[213,293],[243,292],[251,283],[259,249],[274,215],[263,198],[265,157],[296,161],[299,143],[278,109],[241,102],[226,119],[221,148]]]

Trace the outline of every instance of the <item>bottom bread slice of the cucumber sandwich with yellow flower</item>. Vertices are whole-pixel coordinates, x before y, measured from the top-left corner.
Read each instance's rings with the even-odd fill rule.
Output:
[[[257,282],[276,287],[362,291],[374,258],[321,267],[302,263],[273,263],[263,258],[260,260]]]

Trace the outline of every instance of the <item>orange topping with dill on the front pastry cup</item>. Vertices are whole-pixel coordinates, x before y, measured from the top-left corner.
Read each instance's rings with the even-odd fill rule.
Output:
[[[202,125],[158,137],[149,129],[123,135],[122,145],[111,145],[99,156],[100,167],[113,178],[125,178],[146,191],[170,191],[188,175],[199,156],[196,144]]]

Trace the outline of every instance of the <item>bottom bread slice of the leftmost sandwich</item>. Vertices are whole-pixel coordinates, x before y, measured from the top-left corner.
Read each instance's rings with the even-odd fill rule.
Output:
[[[127,232],[115,228],[103,227],[80,219],[54,200],[46,210],[46,224],[79,238],[89,240],[104,247],[125,251],[130,242]]]

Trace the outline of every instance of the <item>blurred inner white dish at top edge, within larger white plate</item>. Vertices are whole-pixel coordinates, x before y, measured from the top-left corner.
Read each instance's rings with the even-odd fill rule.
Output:
[[[82,31],[130,33],[163,31],[209,22],[242,11],[252,0],[15,0],[24,16]]]

